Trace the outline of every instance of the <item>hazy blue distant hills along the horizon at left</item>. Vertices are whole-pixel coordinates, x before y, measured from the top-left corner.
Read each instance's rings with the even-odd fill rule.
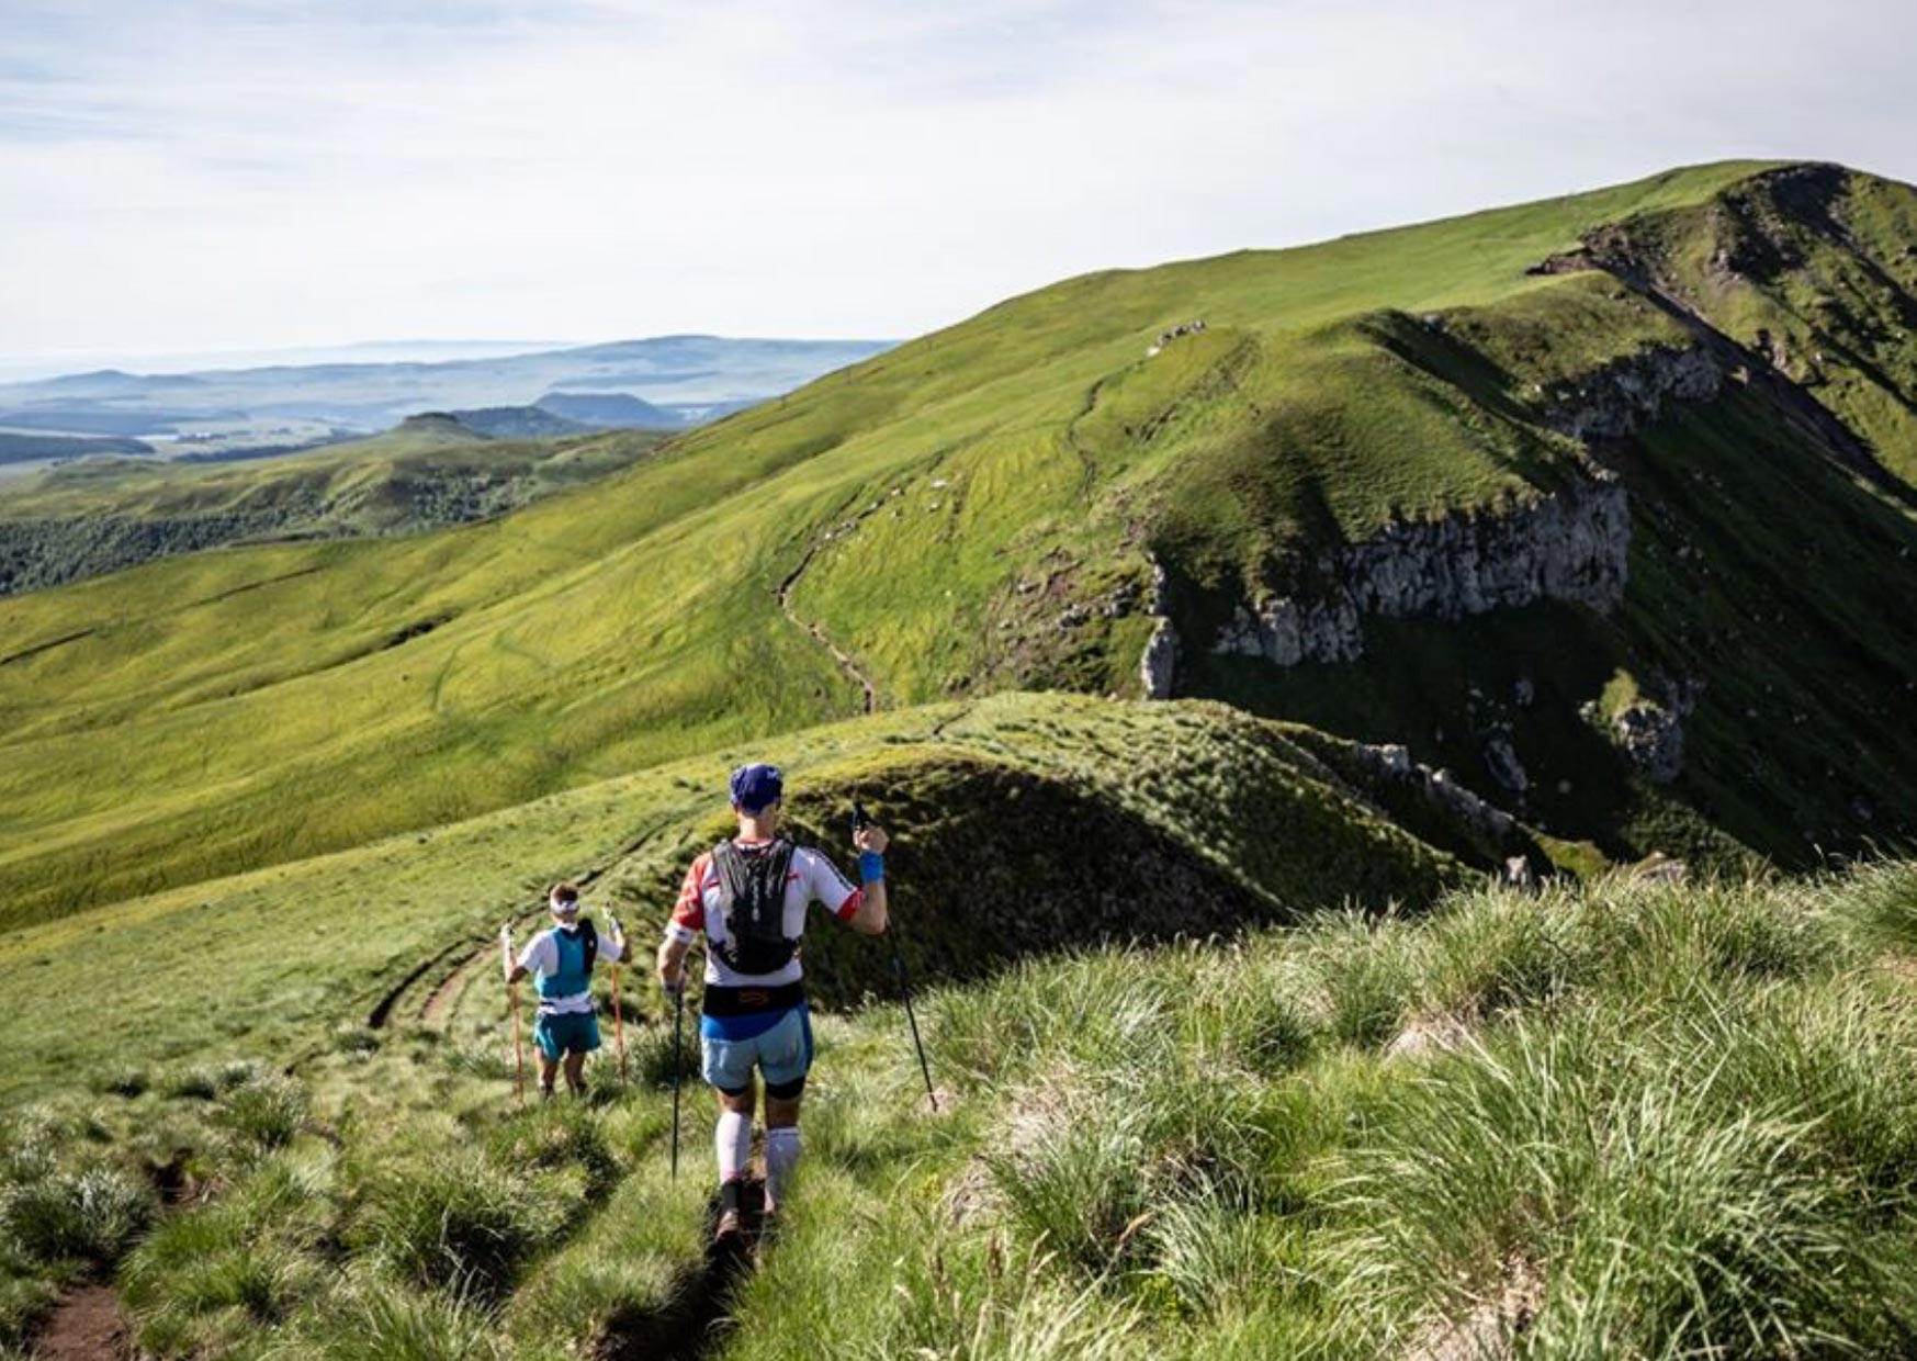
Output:
[[[539,406],[585,427],[698,426],[891,341],[661,335],[443,362],[270,364],[188,374],[102,368],[0,385],[0,431],[159,443],[311,445],[424,410]]]

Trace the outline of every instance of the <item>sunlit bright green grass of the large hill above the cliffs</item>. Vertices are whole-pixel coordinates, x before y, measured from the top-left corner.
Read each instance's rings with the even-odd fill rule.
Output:
[[[1654,318],[1524,268],[1760,169],[1085,276],[495,523],[196,556],[6,602],[8,912],[303,859],[843,717],[861,688],[774,598],[809,550],[792,610],[886,704],[1133,692],[1148,627],[1104,606],[1143,583],[1146,546],[1223,590],[1292,533],[1361,537],[1394,510],[1514,504],[1562,479],[1562,441],[1415,318],[1562,330],[1553,374],[1605,362],[1654,339]],[[1204,335],[1143,358],[1192,316]],[[1087,623],[1062,629],[1072,606]]]

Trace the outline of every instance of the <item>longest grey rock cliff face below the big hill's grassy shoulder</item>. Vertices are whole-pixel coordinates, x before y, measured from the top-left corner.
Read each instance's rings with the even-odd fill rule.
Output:
[[[1601,473],[1509,514],[1392,521],[1325,552],[1288,594],[1238,606],[1215,648],[1281,667],[1353,661],[1361,615],[1461,619],[1536,600],[1608,611],[1624,596],[1631,516],[1624,485]]]

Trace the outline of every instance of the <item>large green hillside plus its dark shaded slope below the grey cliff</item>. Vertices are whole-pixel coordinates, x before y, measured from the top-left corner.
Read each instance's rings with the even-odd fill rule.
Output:
[[[1319,548],[1392,519],[1518,514],[1589,479],[1593,454],[1559,433],[1555,404],[1691,332],[1612,274],[1528,270],[1618,222],[1710,213],[1766,174],[1700,167],[1070,280],[497,523],[155,564],[8,602],[0,891],[15,914],[69,911],[872,702],[1137,692],[1148,554],[1171,573],[1187,692],[1409,742],[1478,788],[1486,725],[1509,723],[1539,776],[1520,811],[1557,836],[1614,855],[1733,861],[1748,847],[1787,863],[1813,842],[1900,836],[1917,751],[1875,715],[1904,702],[1917,638],[1875,604],[1894,592],[1859,588],[1907,579],[1913,529],[1900,483],[1859,481],[1823,433],[1789,420],[1794,389],[1731,380],[1718,403],[1674,408],[1610,450],[1637,498],[1631,585],[1610,621],[1551,604],[1442,633],[1386,621],[1357,667],[1258,671],[1210,654],[1235,600]],[[1846,184],[1858,201],[1909,194]],[[1890,209],[1882,219],[1902,230]],[[1146,358],[1198,318],[1206,330]],[[1746,489],[1773,539],[1672,569],[1664,554],[1691,564],[1691,539]],[[1835,539],[1773,600],[1790,562],[1781,506]],[[1779,679],[1798,690],[1775,694],[1741,659],[1739,638],[1756,650],[1760,625],[1800,631],[1817,652],[1789,665],[1840,671],[1850,698],[1802,688],[1796,671]],[[1725,640],[1718,659],[1697,656],[1698,633]],[[1532,711],[1486,709],[1440,732],[1419,686],[1493,694],[1484,682],[1526,638],[1543,652],[1526,675]],[[1697,696],[1675,784],[1639,780],[1601,740],[1603,717],[1582,717],[1626,679],[1645,692],[1683,680]],[[1767,707],[1729,707],[1750,684],[1773,686]],[[1357,694],[1378,704],[1359,711],[1346,702]],[[1827,761],[1804,817],[1794,790],[1750,776],[1748,751],[1769,748],[1779,721],[1802,728],[1781,774],[1810,780],[1810,753]]]

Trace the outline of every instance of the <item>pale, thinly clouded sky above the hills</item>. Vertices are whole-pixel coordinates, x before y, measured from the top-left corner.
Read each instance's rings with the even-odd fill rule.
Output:
[[[1917,178],[1917,6],[0,0],[0,357],[911,335],[1731,155]]]

